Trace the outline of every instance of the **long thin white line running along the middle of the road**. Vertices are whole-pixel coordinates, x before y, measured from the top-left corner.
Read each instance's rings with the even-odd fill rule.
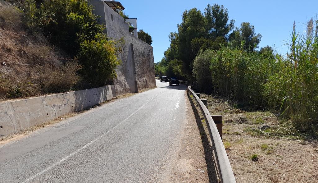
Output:
[[[162,91],[164,92],[164,91]],[[162,92],[158,93],[157,95],[161,94]],[[59,160],[58,162],[54,163],[53,165],[45,168],[44,170],[42,170],[41,172],[38,172],[37,174],[33,175],[32,177],[30,177],[29,179],[24,180],[22,183],[26,183],[31,181],[32,179],[35,179],[36,177],[38,177],[39,175],[47,172],[48,170],[52,169],[53,167],[55,167],[56,165],[59,165],[60,163],[62,163],[63,161],[65,161],[66,159],[72,157],[73,155],[75,155],[76,153],[78,153],[79,151],[82,151],[83,149],[85,149],[87,146],[89,146],[90,144],[93,144],[96,140],[100,139],[101,137],[104,137],[108,132],[114,130],[117,126],[119,126],[121,123],[124,123],[129,117],[133,116],[138,110],[140,110],[141,108],[143,108],[147,103],[149,103],[152,99],[154,99],[157,95],[155,95],[154,97],[152,97],[148,102],[146,102],[145,104],[143,104],[140,108],[138,108],[135,112],[133,112],[131,115],[129,115],[128,117],[126,117],[123,121],[121,121],[120,123],[118,123],[116,126],[114,126],[112,129],[108,130],[107,132],[103,133],[102,135],[100,135],[99,137],[95,138],[94,140],[90,141],[88,144],[82,146],[81,148],[79,148],[78,150],[72,152],[70,155],[66,156],[65,158]]]

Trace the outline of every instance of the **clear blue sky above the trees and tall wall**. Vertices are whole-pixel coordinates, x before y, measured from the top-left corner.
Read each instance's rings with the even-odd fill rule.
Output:
[[[119,0],[118,0],[119,1]],[[263,36],[259,46],[275,46],[280,54],[287,53],[284,40],[289,39],[296,22],[298,31],[303,31],[311,17],[318,12],[318,0],[121,0],[126,8],[125,14],[129,18],[137,18],[138,29],[148,32],[153,40],[155,62],[163,57],[163,52],[169,47],[168,35],[177,31],[177,24],[181,23],[182,12],[196,7],[204,12],[209,4],[224,5],[229,11],[229,19],[235,19],[235,26],[242,22],[250,22],[256,33]]]

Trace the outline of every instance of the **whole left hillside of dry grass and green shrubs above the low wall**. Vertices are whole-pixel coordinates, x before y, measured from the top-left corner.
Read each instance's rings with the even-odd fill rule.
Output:
[[[122,40],[86,0],[0,0],[0,99],[111,84]]]

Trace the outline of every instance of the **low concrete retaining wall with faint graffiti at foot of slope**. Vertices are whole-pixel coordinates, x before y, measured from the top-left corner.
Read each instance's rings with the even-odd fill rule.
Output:
[[[115,96],[115,86],[109,85],[0,103],[0,137],[86,109]]]

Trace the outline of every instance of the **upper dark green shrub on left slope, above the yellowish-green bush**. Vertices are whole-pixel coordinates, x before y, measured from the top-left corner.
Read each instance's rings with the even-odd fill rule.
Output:
[[[76,55],[84,40],[92,40],[103,33],[105,25],[97,22],[93,6],[86,0],[46,0],[38,9],[48,15],[39,26],[51,42],[67,53]]]

